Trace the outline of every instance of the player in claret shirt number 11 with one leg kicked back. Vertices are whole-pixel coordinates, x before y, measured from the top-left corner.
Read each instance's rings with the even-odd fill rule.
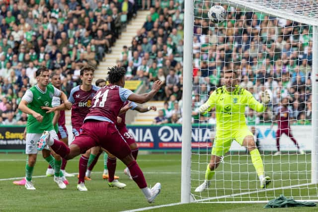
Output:
[[[45,131],[42,139],[37,142],[37,148],[41,150],[48,144],[56,153],[69,160],[80,153],[86,152],[87,149],[93,146],[101,146],[123,161],[147,201],[153,203],[161,190],[161,184],[156,183],[151,189],[147,187],[143,172],[115,124],[120,113],[126,112],[131,108],[122,108],[126,100],[141,104],[148,102],[159,91],[163,82],[157,80],[154,82],[150,92],[135,94],[131,90],[124,88],[125,73],[126,70],[122,67],[109,68],[108,75],[111,84],[101,88],[93,97],[90,112],[85,117],[84,124],[81,127],[82,132],[75,137],[70,147],[62,141],[51,138],[50,133]]]

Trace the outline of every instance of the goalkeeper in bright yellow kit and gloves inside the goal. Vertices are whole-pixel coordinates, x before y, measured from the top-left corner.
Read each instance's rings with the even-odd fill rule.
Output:
[[[199,112],[206,113],[216,107],[216,138],[213,143],[210,163],[205,172],[204,182],[195,189],[195,192],[206,190],[219,166],[222,156],[231,147],[233,140],[245,146],[250,153],[252,163],[256,169],[260,180],[260,188],[266,188],[270,183],[270,177],[264,176],[263,161],[255,146],[254,136],[249,131],[245,122],[245,106],[262,112],[270,101],[269,93],[263,92],[262,103],[255,100],[250,92],[239,87],[237,73],[235,71],[224,72],[224,86],[217,88],[210,96],[208,101],[200,106]]]

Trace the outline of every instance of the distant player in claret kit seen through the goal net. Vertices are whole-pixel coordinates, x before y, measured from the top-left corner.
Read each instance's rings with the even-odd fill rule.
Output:
[[[292,129],[290,128],[289,121],[291,117],[291,111],[288,108],[288,98],[284,98],[281,102],[281,106],[277,109],[276,121],[278,123],[278,129],[276,132],[276,146],[277,152],[274,155],[279,155],[280,152],[280,144],[279,140],[283,134],[286,134],[297,146],[298,153],[304,154],[304,151],[300,149],[299,144],[296,139],[292,135]]]

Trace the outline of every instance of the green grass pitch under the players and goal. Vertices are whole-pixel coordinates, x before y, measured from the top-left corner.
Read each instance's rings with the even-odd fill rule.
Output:
[[[204,170],[208,155],[192,155],[192,188],[193,190],[204,178]],[[26,155],[24,154],[0,154],[0,211],[125,211],[151,206],[159,206],[180,202],[181,186],[181,155],[180,154],[150,154],[139,155],[138,163],[145,173],[149,185],[160,182],[162,190],[156,199],[155,204],[148,204],[137,185],[123,174],[124,165],[117,161],[116,175],[120,176],[120,181],[127,184],[125,189],[109,188],[107,182],[101,178],[103,170],[102,158],[98,161],[92,173],[92,181],[86,182],[87,192],[79,192],[76,189],[77,178],[68,178],[70,184],[66,190],[60,190],[53,182],[52,177],[34,178],[33,182],[37,190],[27,191],[23,186],[13,185],[13,180],[3,180],[7,178],[24,176]],[[264,156],[265,170],[274,179],[274,183],[269,187],[279,188],[310,182],[310,156],[306,155],[281,155]],[[78,160],[75,158],[68,161],[67,171],[69,173],[78,172]],[[34,169],[34,176],[45,175],[47,162],[38,155],[38,161]],[[200,172],[198,172],[200,170]],[[278,170],[282,170],[278,173]],[[292,170],[290,172],[289,170]],[[295,172],[297,170],[298,172]],[[298,174],[295,174],[298,173]],[[255,170],[250,159],[245,155],[229,155],[225,157],[224,163],[218,168],[215,176],[218,184],[212,184],[211,188],[196,194],[195,198],[213,198],[216,196],[226,196],[242,192],[255,192],[256,183]],[[280,180],[284,179],[284,180]],[[317,185],[303,186],[301,188],[290,188],[286,190],[273,190],[268,192],[256,192],[247,195],[227,197],[218,201],[238,201],[238,200],[264,200],[264,197],[278,197],[284,194],[289,197],[309,196],[318,199]],[[225,189],[224,189],[225,188]],[[216,201],[216,200],[214,200]],[[318,211],[313,208],[294,209],[262,209],[265,204],[186,204],[172,207],[152,209],[155,212],[183,212],[183,211]]]

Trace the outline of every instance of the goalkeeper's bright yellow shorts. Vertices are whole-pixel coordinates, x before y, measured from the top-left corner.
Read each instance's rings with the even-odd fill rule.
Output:
[[[217,130],[211,154],[217,156],[225,155],[230,150],[233,140],[242,145],[243,140],[246,136],[253,136],[247,126],[242,126],[239,128],[239,130]]]

